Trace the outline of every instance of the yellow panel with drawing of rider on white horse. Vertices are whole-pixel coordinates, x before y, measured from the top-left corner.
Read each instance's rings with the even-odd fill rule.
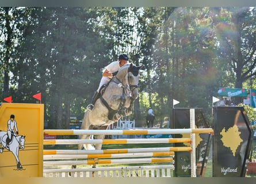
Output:
[[[0,176],[43,175],[43,105],[0,106]]]

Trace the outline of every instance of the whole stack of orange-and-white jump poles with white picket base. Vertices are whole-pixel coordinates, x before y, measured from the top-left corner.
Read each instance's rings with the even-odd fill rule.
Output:
[[[213,133],[208,129],[128,129],[128,130],[45,130],[47,135],[156,135],[176,133]],[[103,139],[44,140],[44,145],[55,144],[147,144],[192,143],[191,138],[160,139]],[[109,164],[109,167],[45,169],[45,177],[171,177],[174,169],[174,152],[189,151],[191,147],[153,147],[111,150],[44,150],[44,166],[72,166],[86,164]],[[195,153],[194,153],[195,154]],[[116,159],[119,158],[119,159]],[[82,160],[77,160],[82,159]],[[91,160],[93,159],[93,160]],[[50,161],[48,161],[50,160]],[[57,161],[56,161],[57,160]],[[110,167],[111,164],[167,163],[158,166]],[[196,169],[196,164],[192,164]],[[94,173],[94,175],[93,175]]]

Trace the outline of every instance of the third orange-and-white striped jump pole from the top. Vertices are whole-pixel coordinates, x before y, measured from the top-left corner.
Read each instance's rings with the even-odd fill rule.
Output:
[[[158,147],[158,148],[128,148],[108,150],[43,150],[44,155],[89,155],[89,154],[128,154],[145,152],[192,151],[191,147]]]

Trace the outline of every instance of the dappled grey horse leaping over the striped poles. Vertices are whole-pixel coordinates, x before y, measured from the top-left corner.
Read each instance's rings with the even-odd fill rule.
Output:
[[[87,110],[83,117],[81,129],[107,129],[109,125],[132,113],[133,104],[138,97],[139,70],[142,66],[132,63],[119,69],[112,80],[101,90],[92,111]],[[90,139],[91,135],[82,135],[81,139]],[[95,135],[95,139],[104,139],[105,135]],[[95,145],[101,150],[102,145]],[[91,150],[89,144],[80,144],[78,149]]]

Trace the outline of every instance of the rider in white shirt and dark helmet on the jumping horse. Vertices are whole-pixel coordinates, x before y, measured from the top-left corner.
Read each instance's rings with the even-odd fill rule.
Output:
[[[117,71],[122,66],[127,64],[127,62],[128,62],[128,55],[123,53],[119,56],[118,61],[112,62],[108,66],[106,66],[106,68],[105,68],[105,70],[103,71],[103,74],[102,74],[100,85],[99,85],[97,91],[95,91],[95,93],[93,95],[93,100],[91,101],[91,104],[89,104],[86,109],[88,109],[90,111],[93,110],[93,106],[94,106],[96,100],[100,97],[101,87],[103,85],[105,85],[106,83],[108,83],[110,81],[110,79],[112,79],[112,77],[117,74]]]

